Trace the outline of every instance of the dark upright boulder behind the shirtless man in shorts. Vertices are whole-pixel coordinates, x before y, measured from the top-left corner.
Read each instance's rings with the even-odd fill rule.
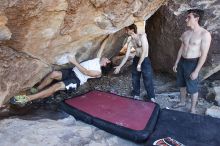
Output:
[[[147,20],[146,32],[150,44],[150,57],[155,70],[173,73],[181,34],[186,28],[186,10],[204,10],[202,26],[212,35],[212,43],[205,67],[201,70],[202,79],[220,70],[220,1],[219,0],[170,0]]]

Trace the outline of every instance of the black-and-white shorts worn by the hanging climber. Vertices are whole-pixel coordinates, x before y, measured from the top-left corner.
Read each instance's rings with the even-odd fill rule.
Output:
[[[62,69],[60,71],[62,72],[61,80],[65,84],[66,90],[75,91],[80,85],[80,80],[75,72],[72,71],[72,68]]]

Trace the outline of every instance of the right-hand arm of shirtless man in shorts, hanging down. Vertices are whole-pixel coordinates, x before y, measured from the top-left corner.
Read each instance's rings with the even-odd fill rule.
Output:
[[[209,47],[211,44],[211,34],[209,32],[206,32],[202,38],[202,42],[201,42],[201,56],[199,57],[199,62],[196,66],[196,69],[192,72],[191,74],[191,79],[195,80],[198,77],[199,71],[201,70],[203,64],[205,63],[205,60],[207,58],[208,55],[208,51],[209,51]]]

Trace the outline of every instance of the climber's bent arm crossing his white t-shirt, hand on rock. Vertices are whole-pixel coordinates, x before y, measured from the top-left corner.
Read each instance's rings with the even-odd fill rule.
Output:
[[[101,72],[99,71],[95,71],[95,70],[87,70],[86,68],[84,68],[83,66],[81,66],[77,61],[75,56],[69,56],[69,61],[74,64],[81,73],[83,73],[84,75],[90,76],[90,77],[101,77]]]

